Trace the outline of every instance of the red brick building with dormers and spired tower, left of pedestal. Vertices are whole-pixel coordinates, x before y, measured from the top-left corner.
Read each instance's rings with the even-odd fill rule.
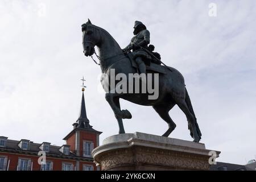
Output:
[[[99,145],[100,134],[90,126],[86,116],[83,88],[79,118],[64,138],[66,144],[55,146],[48,142],[34,143],[27,139],[0,137],[0,171],[99,170],[93,163],[91,152]]]

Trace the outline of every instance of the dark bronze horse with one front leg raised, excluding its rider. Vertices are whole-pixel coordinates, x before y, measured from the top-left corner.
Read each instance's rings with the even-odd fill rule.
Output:
[[[93,25],[89,19],[88,22],[82,24],[82,46],[85,56],[92,56],[95,52],[94,46],[97,46],[101,71],[108,75],[108,78],[110,78],[110,69],[114,69],[115,74],[124,73],[127,77],[129,73],[137,73],[137,69],[132,67],[131,61],[122,52],[114,38],[103,28]],[[106,101],[112,107],[118,121],[119,134],[125,133],[122,119],[131,118],[128,110],[120,109],[119,98],[123,98],[135,104],[152,106],[160,117],[168,123],[168,130],[163,134],[163,137],[168,137],[176,127],[168,112],[177,104],[187,117],[191,137],[194,142],[199,142],[201,131],[185,88],[184,78],[175,68],[168,67],[167,69],[164,67],[163,69],[166,70],[166,74],[159,74],[159,97],[156,100],[148,100],[148,94],[143,93],[107,92],[105,94]],[[147,73],[154,72],[147,70]],[[110,82],[110,80],[108,81]],[[102,86],[104,86],[104,82],[101,81]]]

